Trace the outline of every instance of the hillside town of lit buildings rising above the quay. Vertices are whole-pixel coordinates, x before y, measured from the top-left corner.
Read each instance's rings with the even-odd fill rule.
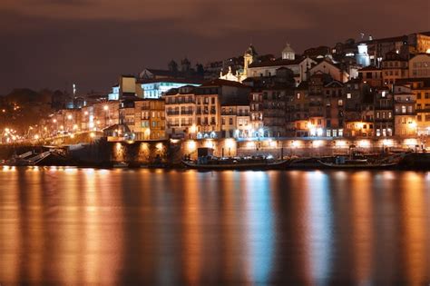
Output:
[[[5,127],[0,140],[352,138],[429,147],[430,32],[278,50],[259,54],[249,44],[242,55],[195,68],[171,60],[166,70],[120,75],[109,94],[83,95],[73,84],[71,96],[53,94],[54,112],[22,134]]]

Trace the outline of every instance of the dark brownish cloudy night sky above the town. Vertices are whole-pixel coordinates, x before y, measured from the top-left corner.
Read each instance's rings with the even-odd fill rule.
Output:
[[[297,53],[360,32],[430,30],[428,0],[1,0],[0,94],[13,88],[108,91],[119,74],[259,54]]]

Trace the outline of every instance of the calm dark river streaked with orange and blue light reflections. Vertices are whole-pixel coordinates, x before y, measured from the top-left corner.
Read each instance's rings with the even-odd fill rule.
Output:
[[[0,170],[0,284],[428,285],[430,173]]]

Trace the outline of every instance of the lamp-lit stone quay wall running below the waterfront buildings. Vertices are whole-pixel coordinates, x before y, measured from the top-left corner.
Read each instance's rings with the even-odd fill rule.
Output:
[[[430,142],[429,142],[430,143]],[[363,153],[421,152],[430,147],[423,139],[347,139],[347,138],[260,138],[256,140],[190,139],[151,142],[112,141],[98,138],[87,143],[66,144],[71,164],[103,165],[127,162],[132,165],[153,163],[178,164],[184,157],[197,158],[200,147],[213,149],[213,155],[233,157],[252,155],[272,155],[280,157],[319,157],[347,154],[354,149]],[[64,147],[64,145],[63,145]],[[13,153],[37,151],[41,145],[0,145],[0,159],[8,159]]]

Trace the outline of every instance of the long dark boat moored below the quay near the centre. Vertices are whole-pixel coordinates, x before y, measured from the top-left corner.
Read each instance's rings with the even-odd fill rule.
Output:
[[[182,163],[190,169],[197,170],[267,170],[283,169],[288,160],[274,160],[264,157],[200,157],[197,161],[182,160]]]

